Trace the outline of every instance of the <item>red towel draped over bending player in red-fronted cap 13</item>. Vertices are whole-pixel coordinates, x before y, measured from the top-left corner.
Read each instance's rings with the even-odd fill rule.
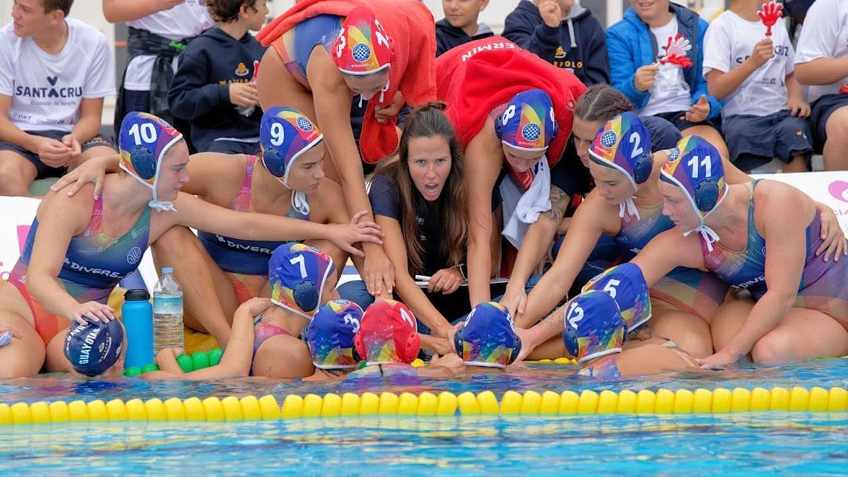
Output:
[[[427,6],[419,0],[302,0],[266,25],[256,37],[263,46],[268,46],[303,20],[320,14],[347,16],[357,7],[374,12],[393,46],[384,101],[380,103],[379,94],[371,98],[362,122],[362,160],[374,164],[393,154],[399,143],[396,121],[377,122],[374,115],[377,104],[388,104],[398,90],[411,106],[436,100],[436,32]]]

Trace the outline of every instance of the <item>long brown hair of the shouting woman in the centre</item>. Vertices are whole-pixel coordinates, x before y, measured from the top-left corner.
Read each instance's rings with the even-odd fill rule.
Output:
[[[424,246],[418,239],[416,216],[426,215],[428,207],[432,208],[434,220],[442,232],[438,244],[440,260],[444,261],[446,267],[456,267],[462,263],[466,253],[468,227],[462,149],[454,127],[448,116],[444,115],[444,108],[444,103],[428,103],[414,110],[407,118],[404,134],[400,137],[400,160],[380,172],[394,179],[401,209],[400,229],[404,234],[410,274],[424,269],[421,256]],[[450,173],[434,205],[427,205],[410,176],[410,141],[416,137],[444,137],[450,149]]]

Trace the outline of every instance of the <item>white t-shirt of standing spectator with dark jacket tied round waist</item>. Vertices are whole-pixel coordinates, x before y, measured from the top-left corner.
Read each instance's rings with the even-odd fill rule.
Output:
[[[126,22],[133,28],[147,30],[169,40],[181,40],[198,36],[215,22],[209,15],[204,0],[186,0],[174,8],[162,10],[138,20]],[[126,65],[124,89],[131,91],[150,91],[150,76],[153,75],[153,63],[156,57],[142,54]],[[176,58],[174,59],[176,70]]]

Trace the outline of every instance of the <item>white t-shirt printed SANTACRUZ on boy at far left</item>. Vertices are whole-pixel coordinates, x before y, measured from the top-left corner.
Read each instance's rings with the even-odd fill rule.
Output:
[[[12,97],[8,119],[24,131],[70,132],[80,119],[82,98],[114,94],[114,59],[106,36],[91,25],[66,19],[68,41],[48,54],[31,37],[0,29],[0,94]]]

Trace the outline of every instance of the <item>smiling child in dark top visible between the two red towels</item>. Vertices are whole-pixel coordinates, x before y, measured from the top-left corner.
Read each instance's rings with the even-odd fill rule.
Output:
[[[462,43],[494,36],[485,23],[477,23],[488,0],[442,0],[444,18],[436,22],[436,56]]]

